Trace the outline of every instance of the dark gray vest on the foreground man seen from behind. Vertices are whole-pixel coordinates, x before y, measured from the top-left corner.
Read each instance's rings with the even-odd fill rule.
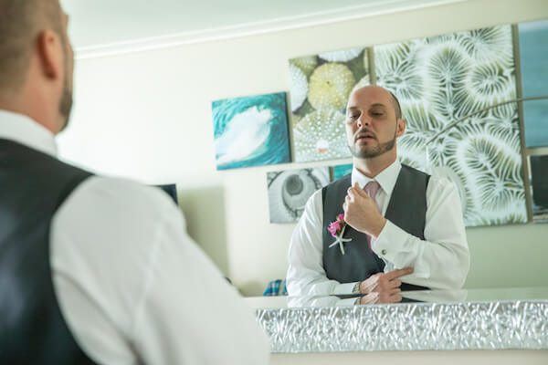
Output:
[[[92,364],[59,309],[49,266],[58,207],[90,176],[0,139],[0,364]]]

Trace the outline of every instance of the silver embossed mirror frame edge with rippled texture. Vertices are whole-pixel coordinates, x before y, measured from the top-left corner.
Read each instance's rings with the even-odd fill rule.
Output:
[[[548,349],[548,301],[262,308],[272,352]]]

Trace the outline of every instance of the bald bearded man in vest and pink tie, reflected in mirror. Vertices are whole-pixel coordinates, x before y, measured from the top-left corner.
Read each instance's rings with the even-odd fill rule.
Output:
[[[396,139],[406,130],[398,100],[380,87],[356,89],[345,125],[353,171],[306,204],[290,242],[289,295],[393,303],[401,290],[462,287],[469,248],[458,191],[398,162]]]

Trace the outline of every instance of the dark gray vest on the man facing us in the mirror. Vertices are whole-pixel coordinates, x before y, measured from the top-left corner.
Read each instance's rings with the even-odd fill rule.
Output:
[[[386,208],[385,218],[402,228],[408,234],[425,239],[425,222],[427,215],[427,185],[430,175],[402,165],[397,176],[394,190]],[[362,281],[376,273],[383,272],[385,262],[376,255],[367,244],[367,236],[348,225],[344,238],[352,242],[344,245],[345,255],[338,246],[329,247],[333,242],[327,230],[329,224],[342,213],[342,203],[350,185],[352,175],[325,186],[321,191],[323,202],[323,269],[329,279],[340,283]],[[402,290],[420,290],[417,287],[402,284]]]

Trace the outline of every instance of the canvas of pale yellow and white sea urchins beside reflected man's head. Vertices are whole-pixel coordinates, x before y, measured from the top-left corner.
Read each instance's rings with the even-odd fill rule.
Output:
[[[344,109],[353,89],[369,84],[366,48],[290,59],[295,162],[350,157]]]

